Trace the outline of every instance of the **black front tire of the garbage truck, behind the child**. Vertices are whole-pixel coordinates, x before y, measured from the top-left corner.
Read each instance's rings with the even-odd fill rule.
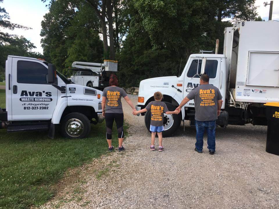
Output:
[[[169,111],[174,111],[176,108],[169,102],[165,102]],[[150,131],[150,121],[151,121],[151,111],[147,111],[144,117],[144,122],[147,130]],[[163,137],[173,136],[181,124],[181,116],[180,114],[176,115],[166,115],[164,114],[164,131]]]

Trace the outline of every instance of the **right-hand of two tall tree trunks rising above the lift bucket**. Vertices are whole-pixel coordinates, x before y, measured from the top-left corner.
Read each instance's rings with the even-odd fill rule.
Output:
[[[112,26],[112,5],[111,0],[107,0],[108,33],[110,36],[110,60],[115,60],[114,52],[114,31]]]

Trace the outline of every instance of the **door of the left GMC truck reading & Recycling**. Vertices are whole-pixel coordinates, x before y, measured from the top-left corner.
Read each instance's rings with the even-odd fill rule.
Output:
[[[12,58],[12,120],[48,120],[58,90],[47,84],[48,69],[39,60]]]

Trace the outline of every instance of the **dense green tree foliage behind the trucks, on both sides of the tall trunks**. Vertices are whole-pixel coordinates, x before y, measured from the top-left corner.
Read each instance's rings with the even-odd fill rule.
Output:
[[[45,0],[42,0],[45,1]],[[101,33],[96,17],[103,1],[52,0],[42,22],[44,53],[68,74],[73,61],[101,60]],[[138,86],[140,80],[178,75],[187,59],[200,49],[213,50],[232,21],[258,20],[255,0],[116,0],[113,8],[116,58],[120,84]],[[222,21],[224,19],[232,21]],[[96,37],[94,36],[96,35]],[[100,42],[100,43],[99,43]],[[95,46],[94,49],[92,47]],[[99,56],[98,56],[99,55]],[[95,61],[94,61],[95,62]],[[97,62],[97,61],[96,61]]]

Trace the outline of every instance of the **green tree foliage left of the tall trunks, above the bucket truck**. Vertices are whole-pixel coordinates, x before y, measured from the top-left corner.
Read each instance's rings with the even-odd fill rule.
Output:
[[[64,75],[74,61],[101,62],[99,19],[84,1],[52,1],[42,21],[42,47],[47,61]]]

